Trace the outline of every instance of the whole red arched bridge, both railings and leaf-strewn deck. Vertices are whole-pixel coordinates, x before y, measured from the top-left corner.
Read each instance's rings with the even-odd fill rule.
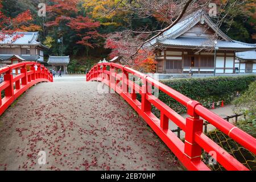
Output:
[[[51,73],[37,63],[9,65],[0,69],[0,75],[4,75],[0,84],[1,93],[4,91],[0,99],[3,169],[182,169],[173,152],[185,168],[209,170],[201,160],[203,149],[214,153],[213,158],[225,169],[248,170],[203,133],[203,119],[256,154],[255,138],[199,102],[127,66],[97,64],[86,75],[87,82],[53,83]],[[97,94],[99,83],[92,81],[108,85],[126,102],[117,94]],[[31,88],[38,82],[50,83]],[[152,88],[187,107],[190,117],[177,114],[152,94]],[[151,127],[150,131],[129,105]],[[160,111],[160,119],[151,112],[152,105]],[[169,129],[169,121],[185,132],[184,142]],[[44,166],[37,164],[40,151],[47,154]]]

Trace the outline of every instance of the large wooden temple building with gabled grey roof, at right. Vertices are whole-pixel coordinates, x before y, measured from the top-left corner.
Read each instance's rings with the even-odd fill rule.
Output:
[[[236,53],[256,49],[256,44],[230,39],[201,11],[181,19],[148,45],[154,47],[157,73],[187,73],[190,68],[196,73],[213,73],[214,49],[216,73],[236,73],[240,69]]]

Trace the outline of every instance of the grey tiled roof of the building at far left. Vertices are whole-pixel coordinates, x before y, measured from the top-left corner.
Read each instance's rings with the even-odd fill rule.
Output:
[[[0,32],[1,34],[1,32]],[[20,37],[13,41],[14,36],[19,35]],[[39,32],[15,32],[11,36],[7,36],[6,39],[0,41],[0,46],[11,45],[11,46],[44,46],[42,43],[37,42]]]

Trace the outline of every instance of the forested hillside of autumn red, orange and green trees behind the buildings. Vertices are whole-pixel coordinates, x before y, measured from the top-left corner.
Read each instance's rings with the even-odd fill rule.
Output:
[[[40,40],[50,48],[46,51],[46,56],[71,55],[72,69],[84,69],[95,61],[108,57],[111,53],[109,48],[116,46],[106,42],[109,34],[129,28],[158,30],[168,24],[168,16],[166,18],[163,15],[163,12],[167,11],[164,9],[165,6],[154,6],[155,10],[151,14],[147,13],[146,9],[141,9],[145,11],[142,16],[130,8],[142,6],[137,5],[137,1],[133,0],[0,0],[0,2],[1,13],[10,18],[30,10],[32,19],[19,24],[18,30],[39,31]],[[38,16],[38,4],[42,2],[47,5],[46,17]],[[224,6],[226,1],[213,2],[220,7],[218,13],[226,11]],[[175,10],[179,6],[174,4],[168,7]],[[170,16],[171,18],[173,17]],[[218,22],[220,17],[213,20]],[[220,28],[234,40],[255,43],[255,21],[255,1],[248,0],[230,10],[222,20]]]

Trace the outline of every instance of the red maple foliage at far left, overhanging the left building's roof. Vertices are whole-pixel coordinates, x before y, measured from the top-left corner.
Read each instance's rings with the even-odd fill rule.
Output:
[[[26,10],[23,13],[18,14],[15,18],[10,18],[2,12],[2,1],[0,1],[0,41],[12,36],[11,42],[20,38],[22,35],[13,35],[19,30],[19,26],[27,21],[32,20],[30,10]]]

